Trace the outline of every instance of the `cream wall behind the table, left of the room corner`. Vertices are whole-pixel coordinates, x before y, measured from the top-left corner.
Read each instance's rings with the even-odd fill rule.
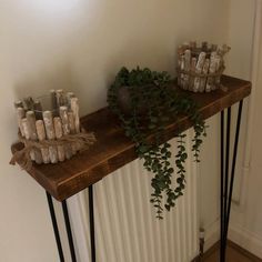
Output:
[[[179,43],[225,42],[228,20],[226,0],[0,1],[1,261],[58,261],[44,192],[8,164],[13,100],[63,88],[91,112],[121,66],[173,73]]]

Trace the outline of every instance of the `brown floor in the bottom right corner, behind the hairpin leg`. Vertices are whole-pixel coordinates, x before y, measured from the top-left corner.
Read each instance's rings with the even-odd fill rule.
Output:
[[[204,255],[203,262],[219,262],[218,245]],[[262,262],[262,260],[230,242],[226,250],[226,262]]]

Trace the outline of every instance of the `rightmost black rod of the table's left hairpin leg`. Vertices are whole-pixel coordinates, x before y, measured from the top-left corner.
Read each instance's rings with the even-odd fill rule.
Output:
[[[93,185],[89,185],[89,220],[90,220],[90,242],[91,261],[95,262],[95,238],[94,238],[94,213],[93,213]]]

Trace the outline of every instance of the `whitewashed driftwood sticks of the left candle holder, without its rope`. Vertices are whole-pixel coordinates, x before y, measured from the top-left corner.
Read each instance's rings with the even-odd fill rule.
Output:
[[[30,150],[31,161],[36,163],[57,163],[71,159],[82,147],[78,142],[63,140],[67,135],[80,135],[79,100],[73,92],[50,90],[48,95],[50,109],[43,109],[41,99],[31,97],[14,102],[19,135],[29,141],[39,142]],[[71,139],[71,138],[70,138]],[[28,142],[27,142],[28,141]],[[44,141],[59,141],[54,145]],[[62,141],[62,142],[60,142]]]

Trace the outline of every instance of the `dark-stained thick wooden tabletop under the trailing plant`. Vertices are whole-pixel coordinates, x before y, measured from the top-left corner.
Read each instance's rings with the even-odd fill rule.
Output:
[[[249,81],[223,75],[222,83],[226,91],[188,92],[198,102],[203,119],[231,107],[251,93]],[[83,117],[81,122],[85,130],[95,133],[98,140],[90,150],[58,164],[33,164],[29,171],[29,174],[59,201],[80,192],[137,159],[134,144],[124,135],[119,121],[108,108]],[[181,117],[165,127],[164,139],[172,139],[178,132],[191,127],[189,118]],[[13,144],[12,152],[21,150],[22,147],[21,143]]]

